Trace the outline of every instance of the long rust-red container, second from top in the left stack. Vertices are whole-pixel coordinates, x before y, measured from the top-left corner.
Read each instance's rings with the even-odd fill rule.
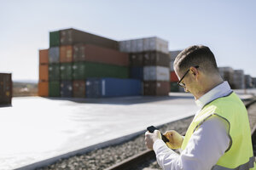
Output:
[[[90,44],[73,46],[74,61],[90,61],[109,65],[129,65],[129,55],[110,48],[97,47]]]

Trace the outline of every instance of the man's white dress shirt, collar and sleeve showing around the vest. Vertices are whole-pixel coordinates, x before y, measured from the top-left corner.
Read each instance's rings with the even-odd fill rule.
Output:
[[[204,105],[231,92],[228,82],[212,88],[195,101],[200,109],[195,116]],[[227,129],[228,125],[223,120],[218,116],[211,116],[192,134],[187,147],[180,155],[168,148],[163,140],[157,139],[153,149],[158,164],[165,170],[210,170],[230,145]]]

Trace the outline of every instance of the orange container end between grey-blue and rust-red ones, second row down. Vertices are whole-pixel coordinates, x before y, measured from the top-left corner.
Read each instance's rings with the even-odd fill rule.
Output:
[[[60,48],[60,62],[70,63],[73,61],[73,46],[65,45]]]

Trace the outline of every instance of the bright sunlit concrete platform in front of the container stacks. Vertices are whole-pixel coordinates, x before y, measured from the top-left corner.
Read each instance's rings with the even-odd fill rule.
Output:
[[[244,97],[241,94],[241,98]],[[24,167],[191,116],[190,94],[113,99],[14,98],[0,108],[0,169]]]

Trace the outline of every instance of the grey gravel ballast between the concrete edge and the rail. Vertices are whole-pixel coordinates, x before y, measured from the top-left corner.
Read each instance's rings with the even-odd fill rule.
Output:
[[[193,117],[170,122],[160,127],[160,131],[165,133],[167,129],[176,130],[178,133],[185,133]],[[145,127],[146,128],[146,127]],[[146,130],[145,130],[146,132]],[[67,159],[59,160],[48,167],[38,168],[40,170],[61,170],[61,169],[78,169],[78,170],[103,170],[114,164],[124,161],[128,157],[135,156],[143,150],[147,150],[144,144],[144,134],[123,144],[109,146],[99,150],[90,151],[84,155],[72,156]],[[156,162],[156,161],[155,161]],[[153,162],[155,166],[157,163]],[[143,168],[143,167],[142,167]],[[157,167],[160,168],[160,167]]]

